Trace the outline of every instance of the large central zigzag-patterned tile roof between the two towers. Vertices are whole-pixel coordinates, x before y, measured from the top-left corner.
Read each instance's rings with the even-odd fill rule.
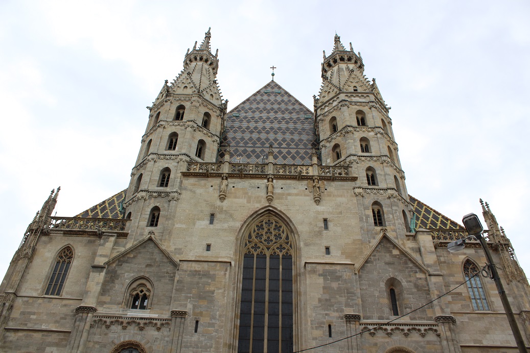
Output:
[[[275,163],[311,164],[317,148],[313,112],[271,81],[228,112],[220,159],[228,144],[231,162],[267,162],[272,144]]]

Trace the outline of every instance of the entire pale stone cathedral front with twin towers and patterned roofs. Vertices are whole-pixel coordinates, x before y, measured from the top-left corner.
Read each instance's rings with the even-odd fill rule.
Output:
[[[351,43],[324,53],[312,110],[271,80],[228,111],[217,70],[208,30],[126,189],[74,217],[52,191],[0,286],[0,351],[517,351],[479,242],[448,252],[465,229],[408,194]],[[530,288],[481,203],[528,345]]]

